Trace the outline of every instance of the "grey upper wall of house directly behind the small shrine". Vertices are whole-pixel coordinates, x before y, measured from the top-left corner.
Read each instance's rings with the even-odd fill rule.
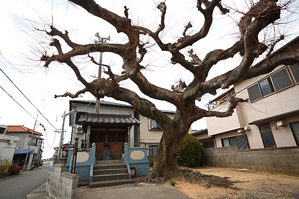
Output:
[[[73,103],[73,105],[76,105],[76,111],[80,111],[80,112],[95,112],[95,105],[94,104],[89,104],[88,106],[86,106],[87,104],[81,104],[81,103]],[[86,107],[85,107],[86,106]],[[119,107],[111,107],[111,106],[100,106],[100,113],[110,113],[110,114],[131,114],[132,117],[134,117],[134,109],[131,108],[119,108]],[[73,115],[73,114],[72,114]],[[71,117],[71,121],[72,121],[72,117]],[[80,140],[84,140],[85,139],[85,134],[84,133],[77,133],[76,132],[76,128],[79,126],[79,124],[75,124],[74,128],[73,128],[73,135],[72,136],[72,140],[71,143],[74,143],[74,138],[78,137],[79,138],[79,143]],[[135,126],[133,125],[131,128],[131,132],[130,132],[130,146],[134,146],[134,129]]]

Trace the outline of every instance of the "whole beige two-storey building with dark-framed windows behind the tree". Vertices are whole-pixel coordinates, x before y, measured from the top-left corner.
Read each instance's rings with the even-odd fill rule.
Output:
[[[298,49],[299,37],[271,56]],[[230,117],[207,117],[207,132],[198,132],[199,140],[239,149],[299,146],[299,65],[279,66],[269,74],[240,81],[211,100],[209,109],[226,111],[234,97],[249,101],[238,104]]]

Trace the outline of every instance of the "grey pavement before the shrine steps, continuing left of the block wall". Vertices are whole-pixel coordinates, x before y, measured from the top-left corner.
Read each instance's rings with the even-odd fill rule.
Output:
[[[47,199],[45,186],[42,184],[27,199]],[[78,188],[77,199],[190,199],[174,187],[166,183],[128,184],[106,188]]]

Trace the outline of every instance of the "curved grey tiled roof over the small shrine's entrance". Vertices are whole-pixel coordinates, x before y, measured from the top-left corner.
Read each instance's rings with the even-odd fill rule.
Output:
[[[79,122],[95,123],[95,124],[129,124],[139,125],[141,122],[135,117],[126,114],[101,114],[87,113],[81,115]]]

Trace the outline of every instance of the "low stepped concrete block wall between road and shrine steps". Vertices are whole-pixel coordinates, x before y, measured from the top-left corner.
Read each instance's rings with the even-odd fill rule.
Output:
[[[54,164],[49,171],[46,195],[49,199],[77,199],[79,176],[65,172],[64,164]]]

